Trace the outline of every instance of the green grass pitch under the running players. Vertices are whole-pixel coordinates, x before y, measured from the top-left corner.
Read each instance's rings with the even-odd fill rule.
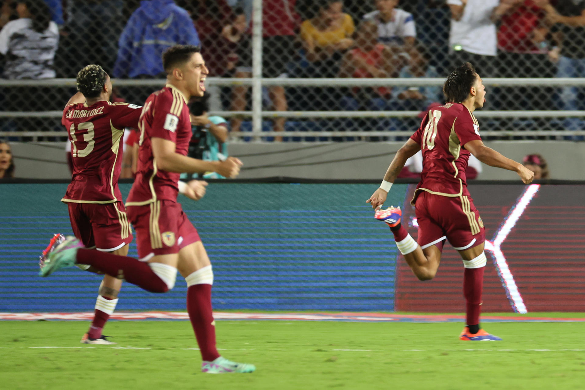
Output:
[[[216,326],[223,356],[254,363],[256,372],[202,374],[199,351],[188,349],[197,347],[190,323],[183,321],[110,322],[104,333],[117,348],[80,344],[87,322],[0,322],[0,388],[585,388],[583,322],[484,324],[503,337],[499,342],[459,341],[461,323]]]

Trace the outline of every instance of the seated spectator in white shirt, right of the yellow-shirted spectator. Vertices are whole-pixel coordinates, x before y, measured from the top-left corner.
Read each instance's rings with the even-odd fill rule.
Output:
[[[378,27],[378,40],[392,49],[394,66],[407,63],[414,49],[417,30],[411,13],[396,8],[398,0],[376,0],[377,11],[366,13],[364,20],[373,20]]]

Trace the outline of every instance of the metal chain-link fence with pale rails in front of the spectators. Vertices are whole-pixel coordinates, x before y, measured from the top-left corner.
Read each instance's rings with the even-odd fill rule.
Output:
[[[75,89],[59,80],[90,63],[128,80],[113,99],[142,103],[183,43],[201,45],[210,112],[244,141],[404,140],[465,61],[487,79],[488,139],[585,139],[585,0],[4,1],[0,27],[12,136],[63,134]]]

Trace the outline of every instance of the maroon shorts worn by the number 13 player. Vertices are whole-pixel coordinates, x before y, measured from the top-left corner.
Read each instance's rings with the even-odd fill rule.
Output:
[[[67,202],[73,234],[87,248],[111,252],[132,242],[132,230],[122,202]]]

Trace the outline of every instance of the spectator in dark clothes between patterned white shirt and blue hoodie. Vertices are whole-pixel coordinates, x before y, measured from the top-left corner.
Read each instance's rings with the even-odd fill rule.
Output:
[[[74,77],[87,64],[111,74],[122,33],[124,1],[67,0],[67,22],[57,53],[59,77]]]

